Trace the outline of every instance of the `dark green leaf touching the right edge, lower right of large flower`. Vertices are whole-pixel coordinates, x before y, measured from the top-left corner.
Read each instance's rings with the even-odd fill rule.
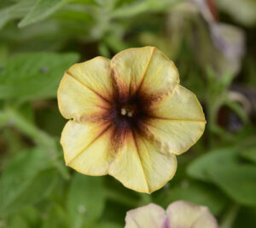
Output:
[[[230,165],[208,168],[212,182],[236,202],[256,206],[256,166]]]

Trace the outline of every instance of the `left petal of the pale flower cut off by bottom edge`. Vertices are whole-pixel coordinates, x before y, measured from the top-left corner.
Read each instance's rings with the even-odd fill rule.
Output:
[[[150,203],[147,206],[128,211],[125,217],[125,228],[163,228],[165,222],[165,210]]]

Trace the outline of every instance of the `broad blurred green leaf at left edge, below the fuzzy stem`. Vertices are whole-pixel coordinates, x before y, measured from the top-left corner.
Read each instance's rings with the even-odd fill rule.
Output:
[[[0,214],[13,213],[40,201],[53,188],[57,173],[41,148],[20,151],[3,169]]]

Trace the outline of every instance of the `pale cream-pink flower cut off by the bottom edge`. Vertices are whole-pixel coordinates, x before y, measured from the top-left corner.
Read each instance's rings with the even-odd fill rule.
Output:
[[[128,211],[125,228],[218,228],[218,222],[207,207],[177,201],[166,211],[154,203]]]

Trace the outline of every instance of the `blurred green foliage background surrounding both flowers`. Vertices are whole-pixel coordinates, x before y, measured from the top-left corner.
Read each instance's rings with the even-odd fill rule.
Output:
[[[256,227],[256,2],[199,2],[0,1],[0,227],[119,228],[131,208],[181,199],[209,207],[221,228]],[[151,195],[65,167],[55,99],[73,63],[145,45],[174,60],[207,117]]]

